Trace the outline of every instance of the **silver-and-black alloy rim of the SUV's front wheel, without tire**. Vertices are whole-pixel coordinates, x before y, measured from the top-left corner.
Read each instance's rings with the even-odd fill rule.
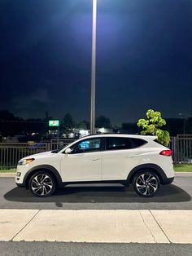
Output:
[[[33,193],[37,196],[46,196],[53,188],[53,182],[47,174],[38,174],[31,183]]]

